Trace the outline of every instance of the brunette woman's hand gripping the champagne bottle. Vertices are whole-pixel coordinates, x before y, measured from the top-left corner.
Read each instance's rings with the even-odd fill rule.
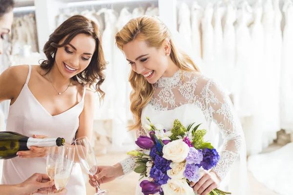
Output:
[[[33,138],[48,138],[42,135],[33,135]],[[17,156],[21,158],[34,158],[34,157],[44,157],[47,156],[48,149],[47,147],[36,147],[32,146],[28,151],[19,151]]]

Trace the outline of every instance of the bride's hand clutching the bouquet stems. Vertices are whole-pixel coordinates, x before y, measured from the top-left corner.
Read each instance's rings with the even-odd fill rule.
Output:
[[[198,195],[208,195],[212,190],[219,187],[220,178],[213,172],[205,171],[203,176],[198,182],[191,182],[190,186],[193,186],[193,191]]]

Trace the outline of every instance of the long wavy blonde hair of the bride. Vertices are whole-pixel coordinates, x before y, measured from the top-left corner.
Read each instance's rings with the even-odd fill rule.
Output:
[[[123,46],[132,40],[144,40],[148,47],[156,48],[161,48],[168,40],[171,47],[170,58],[178,68],[185,71],[199,71],[192,59],[176,48],[166,24],[157,17],[143,16],[129,20],[116,34],[115,39],[122,52]],[[154,88],[143,75],[134,71],[130,72],[129,82],[133,89],[130,95],[130,110],[134,115],[134,124],[129,126],[129,130],[135,130],[141,127],[142,110],[152,98]]]

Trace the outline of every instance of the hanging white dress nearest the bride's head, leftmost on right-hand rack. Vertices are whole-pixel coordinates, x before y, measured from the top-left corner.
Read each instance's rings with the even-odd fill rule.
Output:
[[[190,10],[185,2],[182,2],[178,11],[178,32],[188,48],[191,49],[191,23]]]

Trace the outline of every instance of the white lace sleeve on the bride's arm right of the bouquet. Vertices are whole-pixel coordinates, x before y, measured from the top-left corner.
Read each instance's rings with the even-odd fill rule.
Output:
[[[223,180],[240,153],[244,141],[242,126],[230,98],[213,81],[208,81],[205,91],[209,117],[217,124],[224,138],[220,160],[211,171]]]

